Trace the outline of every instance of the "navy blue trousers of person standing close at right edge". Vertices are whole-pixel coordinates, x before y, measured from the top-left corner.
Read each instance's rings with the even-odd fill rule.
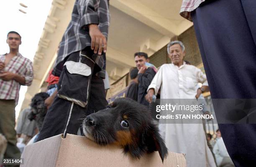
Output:
[[[255,9],[255,0],[207,0],[191,13],[212,99],[256,99]],[[219,127],[236,167],[255,165],[256,124]]]

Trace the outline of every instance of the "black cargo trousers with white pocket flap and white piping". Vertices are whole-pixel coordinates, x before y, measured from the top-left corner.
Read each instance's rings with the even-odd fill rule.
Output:
[[[102,110],[108,105],[103,80],[96,75],[100,68],[91,59],[93,54],[91,50],[85,50],[85,52],[84,55],[87,57],[81,57],[79,52],[75,52],[69,55],[67,61],[79,62],[80,59],[91,68],[92,74],[89,76],[70,74],[67,67],[63,67],[59,78],[58,97],[55,97],[46,113],[37,141],[62,133],[77,134],[84,116]],[[87,105],[81,107],[73,101],[60,98],[59,95],[84,101]]]

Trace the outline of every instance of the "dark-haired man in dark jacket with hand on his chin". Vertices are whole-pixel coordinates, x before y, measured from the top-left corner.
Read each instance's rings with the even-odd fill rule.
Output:
[[[149,103],[145,99],[148,86],[153,80],[156,72],[153,68],[147,67],[146,63],[149,62],[148,55],[144,52],[136,52],[134,54],[136,67],[138,69],[138,99],[137,101],[143,105],[148,106]],[[148,63],[149,64],[149,63]]]

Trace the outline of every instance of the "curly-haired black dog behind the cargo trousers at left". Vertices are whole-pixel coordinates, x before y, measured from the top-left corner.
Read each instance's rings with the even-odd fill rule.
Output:
[[[49,95],[45,92],[37,93],[31,100],[31,113],[28,115],[29,120],[35,120],[38,130],[40,132],[41,127],[44,122],[44,117],[47,112],[47,107],[44,105],[44,100],[47,99]]]

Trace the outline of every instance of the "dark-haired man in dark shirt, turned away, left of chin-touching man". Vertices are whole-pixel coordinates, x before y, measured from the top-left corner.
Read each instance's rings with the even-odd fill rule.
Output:
[[[138,99],[138,69],[134,68],[130,71],[131,83],[128,87],[126,97],[137,101]]]

